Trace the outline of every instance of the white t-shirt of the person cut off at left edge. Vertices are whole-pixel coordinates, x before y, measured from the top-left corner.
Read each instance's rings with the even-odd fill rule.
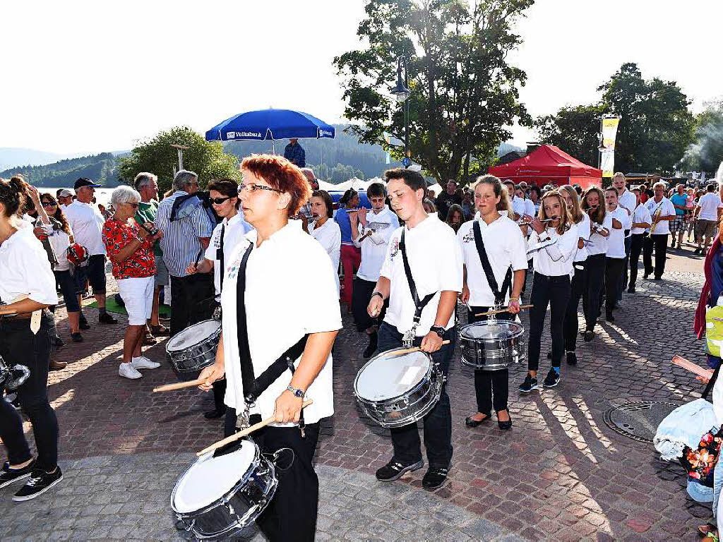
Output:
[[[33,228],[21,228],[0,245],[0,301],[10,304],[19,296],[43,305],[58,304],[48,253]]]

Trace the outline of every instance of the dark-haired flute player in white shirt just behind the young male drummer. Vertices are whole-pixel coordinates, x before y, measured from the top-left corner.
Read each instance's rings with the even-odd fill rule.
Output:
[[[385,303],[377,318],[369,317],[367,306],[372,292],[379,280],[379,270],[387,255],[389,239],[397,228],[397,215],[385,205],[387,190],[382,183],[372,183],[367,188],[367,198],[372,204],[372,213],[361,207],[357,214],[351,214],[351,238],[355,246],[361,249],[361,264],[354,279],[354,294],[351,296],[351,309],[354,314],[356,330],[369,335],[369,345],[364,350],[364,358],[370,358],[377,350],[378,322],[384,320],[388,303]],[[357,221],[358,220],[358,221]]]

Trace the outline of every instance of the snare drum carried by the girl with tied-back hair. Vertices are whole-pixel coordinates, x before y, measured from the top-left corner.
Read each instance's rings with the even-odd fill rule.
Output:
[[[525,359],[525,328],[508,320],[486,320],[467,324],[459,330],[462,363],[497,371]]]

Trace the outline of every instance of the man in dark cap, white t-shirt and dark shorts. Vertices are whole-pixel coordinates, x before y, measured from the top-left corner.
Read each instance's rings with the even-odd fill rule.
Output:
[[[81,295],[85,291],[85,281],[93,288],[93,296],[98,301],[100,324],[117,324],[118,320],[106,311],[106,245],[103,244],[101,231],[106,219],[100,214],[98,207],[93,205],[95,184],[90,178],[81,177],[73,186],[77,199],[64,208],[63,213],[68,220],[73,237],[77,244],[85,246],[88,251],[88,263],[85,267],[76,267],[76,291],[78,303],[82,309]],[[90,325],[80,313],[80,329],[90,329]]]

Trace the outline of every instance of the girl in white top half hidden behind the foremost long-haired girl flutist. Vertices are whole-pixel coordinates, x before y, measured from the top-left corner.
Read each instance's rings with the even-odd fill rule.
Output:
[[[578,246],[573,259],[573,278],[570,282],[570,301],[565,312],[565,360],[568,365],[577,365],[575,353],[578,337],[578,306],[580,299],[587,293],[588,251],[585,241],[590,239],[590,217],[580,207],[580,197],[569,184],[560,187],[560,195],[565,200],[570,215],[570,223],[578,228]]]

